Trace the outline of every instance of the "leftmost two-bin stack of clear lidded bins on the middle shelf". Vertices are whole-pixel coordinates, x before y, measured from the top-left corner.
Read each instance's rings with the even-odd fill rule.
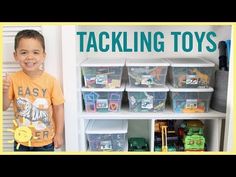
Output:
[[[124,59],[87,59],[81,63],[86,112],[120,111],[124,86],[121,85]]]

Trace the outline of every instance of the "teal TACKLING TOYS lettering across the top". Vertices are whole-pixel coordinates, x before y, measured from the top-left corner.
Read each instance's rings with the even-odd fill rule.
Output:
[[[167,35],[167,34],[165,34]],[[165,52],[166,47],[173,52],[214,52],[217,49],[216,33],[180,32],[168,34],[171,46],[165,46],[163,32],[84,32],[78,31],[80,52]]]

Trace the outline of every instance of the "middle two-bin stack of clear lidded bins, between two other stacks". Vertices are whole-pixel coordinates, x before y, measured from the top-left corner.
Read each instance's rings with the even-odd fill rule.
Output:
[[[127,59],[129,84],[126,86],[131,112],[165,110],[169,63],[164,59]]]

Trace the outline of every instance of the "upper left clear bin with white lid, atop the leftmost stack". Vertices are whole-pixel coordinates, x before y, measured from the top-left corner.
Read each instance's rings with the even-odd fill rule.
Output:
[[[124,59],[87,59],[81,63],[85,87],[119,88]]]

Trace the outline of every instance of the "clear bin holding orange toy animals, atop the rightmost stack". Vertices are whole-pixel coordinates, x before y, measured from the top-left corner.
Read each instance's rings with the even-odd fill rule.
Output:
[[[171,58],[169,77],[175,88],[208,88],[215,64],[202,58]]]

